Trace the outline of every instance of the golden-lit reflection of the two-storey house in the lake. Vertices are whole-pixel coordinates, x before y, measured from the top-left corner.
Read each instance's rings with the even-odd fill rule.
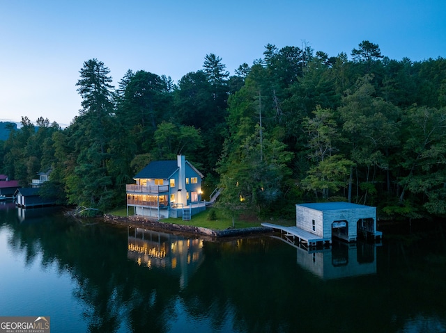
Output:
[[[167,268],[180,275],[180,287],[203,261],[203,240],[128,227],[127,257],[140,266]]]

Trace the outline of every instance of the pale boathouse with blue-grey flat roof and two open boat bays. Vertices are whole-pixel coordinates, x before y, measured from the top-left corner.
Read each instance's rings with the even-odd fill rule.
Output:
[[[337,237],[354,242],[357,235],[379,238],[376,207],[349,202],[296,204],[296,227],[321,238]]]

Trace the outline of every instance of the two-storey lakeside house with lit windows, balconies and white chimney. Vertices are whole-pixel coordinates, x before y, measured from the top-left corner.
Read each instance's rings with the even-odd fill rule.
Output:
[[[127,213],[134,207],[134,214],[151,218],[179,218],[206,209],[201,200],[203,174],[185,156],[176,161],[153,161],[138,172],[136,184],[126,186]]]

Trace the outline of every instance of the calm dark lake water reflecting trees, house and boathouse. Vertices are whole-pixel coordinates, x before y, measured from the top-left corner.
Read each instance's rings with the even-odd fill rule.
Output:
[[[52,332],[446,332],[446,226],[307,252],[0,204],[0,316]]]

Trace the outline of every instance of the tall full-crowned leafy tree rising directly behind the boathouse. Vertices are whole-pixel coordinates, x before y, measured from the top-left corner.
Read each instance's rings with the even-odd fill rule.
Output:
[[[344,149],[344,153],[357,165],[356,200],[359,200],[359,190],[362,188],[364,204],[369,192],[377,193],[377,169],[385,172],[383,179],[390,191],[390,155],[399,143],[399,108],[380,97],[374,97],[376,90],[371,84],[372,79],[373,76],[368,74],[359,79],[355,91],[344,97],[344,105],[338,108],[344,137],[348,140],[344,148],[349,147]],[[363,176],[358,174],[360,171]]]

